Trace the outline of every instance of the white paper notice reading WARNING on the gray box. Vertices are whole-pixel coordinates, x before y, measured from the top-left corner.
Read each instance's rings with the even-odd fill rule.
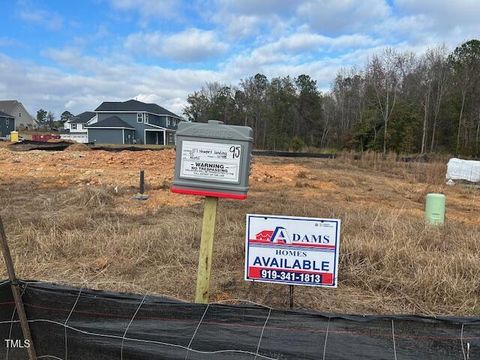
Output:
[[[239,144],[183,141],[180,177],[238,183],[241,151]]]

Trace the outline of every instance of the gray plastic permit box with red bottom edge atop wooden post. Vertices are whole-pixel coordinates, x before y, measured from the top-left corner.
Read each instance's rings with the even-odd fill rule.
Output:
[[[248,126],[181,122],[176,132],[175,176],[171,191],[245,199],[253,130]]]

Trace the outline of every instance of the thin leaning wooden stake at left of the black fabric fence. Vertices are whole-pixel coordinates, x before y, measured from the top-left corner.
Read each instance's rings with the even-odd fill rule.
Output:
[[[32,334],[30,333],[30,327],[28,326],[27,315],[25,314],[25,308],[23,306],[22,296],[18,289],[17,277],[15,275],[15,269],[13,267],[12,256],[10,255],[10,249],[7,243],[7,236],[5,235],[5,229],[3,228],[3,221],[0,217],[0,245],[2,247],[3,258],[5,259],[5,266],[7,267],[8,278],[10,280],[10,286],[12,288],[13,299],[15,300],[15,307],[17,308],[18,318],[20,319],[20,325],[22,327],[23,337],[30,342],[30,346],[27,347],[28,358],[30,360],[36,360],[37,354],[35,352],[35,346],[33,345]]]

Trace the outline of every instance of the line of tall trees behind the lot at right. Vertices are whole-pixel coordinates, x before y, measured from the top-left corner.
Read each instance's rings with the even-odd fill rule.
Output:
[[[190,94],[190,121],[222,120],[254,130],[260,149],[307,147],[386,153],[480,155],[480,41],[452,52],[385,49],[363,68],[343,69],[328,92],[309,75],[237,86],[207,83]]]

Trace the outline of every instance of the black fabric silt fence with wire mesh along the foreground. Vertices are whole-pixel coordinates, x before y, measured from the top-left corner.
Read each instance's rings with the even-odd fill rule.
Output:
[[[39,359],[480,359],[480,318],[335,315],[21,282]],[[27,359],[0,284],[3,359]]]

